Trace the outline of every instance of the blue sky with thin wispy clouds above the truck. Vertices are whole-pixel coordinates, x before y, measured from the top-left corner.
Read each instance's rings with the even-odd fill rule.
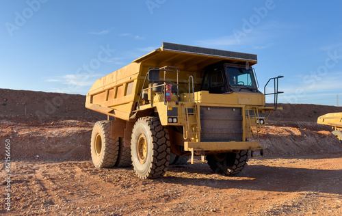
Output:
[[[280,103],[342,104],[342,1],[1,1],[0,24],[0,88],[86,94],[173,42],[257,54]]]

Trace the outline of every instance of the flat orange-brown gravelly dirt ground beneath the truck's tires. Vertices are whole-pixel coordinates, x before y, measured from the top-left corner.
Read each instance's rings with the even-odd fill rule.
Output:
[[[90,161],[16,161],[12,170],[8,215],[342,215],[334,153],[251,159],[232,177],[200,163],[171,165],[154,180]]]

